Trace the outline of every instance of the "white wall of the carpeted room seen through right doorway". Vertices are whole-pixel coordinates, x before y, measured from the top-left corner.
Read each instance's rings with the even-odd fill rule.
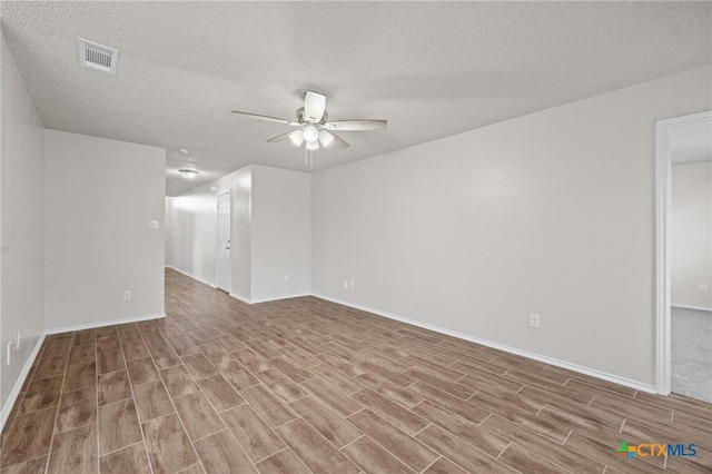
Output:
[[[712,161],[672,167],[671,240],[672,304],[712,310]]]

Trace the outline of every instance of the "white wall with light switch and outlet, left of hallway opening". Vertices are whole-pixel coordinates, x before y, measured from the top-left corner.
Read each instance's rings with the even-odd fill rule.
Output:
[[[166,151],[47,130],[46,160],[46,329],[162,316]]]

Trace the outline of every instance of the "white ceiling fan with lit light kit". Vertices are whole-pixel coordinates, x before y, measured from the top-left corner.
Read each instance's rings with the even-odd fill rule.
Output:
[[[326,96],[313,90],[307,90],[304,93],[304,107],[299,107],[297,109],[296,121],[261,116],[258,113],[243,112],[240,110],[233,110],[233,113],[253,117],[259,120],[284,124],[290,127],[299,127],[297,130],[288,131],[286,134],[278,135],[275,138],[270,138],[267,142],[275,144],[277,141],[289,139],[289,141],[297,147],[304,145],[307,154],[320,148],[348,148],[348,144],[344,141],[343,138],[334,134],[334,131],[364,131],[388,127],[388,122],[386,120],[355,119],[326,121],[328,116],[326,111]]]

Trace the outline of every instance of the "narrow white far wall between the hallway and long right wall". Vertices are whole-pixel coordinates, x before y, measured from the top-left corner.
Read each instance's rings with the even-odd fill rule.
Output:
[[[251,168],[250,299],[308,295],[312,290],[312,178],[306,172],[265,166]]]

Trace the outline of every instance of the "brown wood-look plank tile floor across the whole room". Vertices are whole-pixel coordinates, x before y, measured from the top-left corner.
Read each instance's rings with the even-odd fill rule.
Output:
[[[712,472],[712,405],[176,271],[166,319],[46,338],[6,473]],[[695,457],[616,453],[695,443]]]

